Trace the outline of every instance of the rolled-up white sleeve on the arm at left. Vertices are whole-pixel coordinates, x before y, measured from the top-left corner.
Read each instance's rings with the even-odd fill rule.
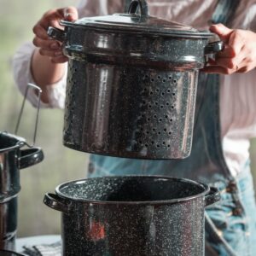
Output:
[[[28,83],[35,84],[31,73],[31,60],[35,50],[32,42],[22,44],[16,51],[12,60],[15,84],[17,84],[20,92],[25,95],[26,86]],[[43,108],[64,108],[65,92],[67,81],[67,67],[63,77],[55,84],[49,84],[46,87],[49,96],[49,103],[41,102]],[[34,90],[28,90],[26,98],[36,107],[38,104],[38,95]]]

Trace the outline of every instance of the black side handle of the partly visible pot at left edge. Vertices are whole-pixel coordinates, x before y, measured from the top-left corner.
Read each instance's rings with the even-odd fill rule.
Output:
[[[44,160],[44,153],[41,148],[26,148],[20,150],[20,169],[34,166]]]

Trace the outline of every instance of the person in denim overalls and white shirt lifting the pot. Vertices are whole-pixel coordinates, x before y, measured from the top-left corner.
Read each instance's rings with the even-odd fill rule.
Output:
[[[32,82],[43,89],[44,108],[64,108],[67,57],[49,39],[59,20],[123,12],[124,0],[82,0],[78,8],[51,9],[38,20],[32,43],[14,57],[15,82],[24,93]],[[202,69],[198,84],[191,155],[185,160],[131,160],[90,155],[89,176],[160,174],[189,177],[218,187],[221,201],[206,209],[207,255],[255,255],[256,207],[249,139],[256,137],[256,1],[148,0],[150,15],[200,30],[210,29],[224,50]],[[60,27],[61,28],[61,27]],[[36,93],[28,100],[36,105]]]

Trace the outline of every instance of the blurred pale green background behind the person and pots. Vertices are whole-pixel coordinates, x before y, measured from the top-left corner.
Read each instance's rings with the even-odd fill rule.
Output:
[[[76,5],[76,0],[0,0],[0,131],[15,132],[22,96],[15,88],[11,60],[20,44],[31,41],[32,26],[48,9]],[[26,103],[19,135],[32,141],[36,109]],[[68,180],[83,178],[88,154],[62,146],[63,111],[41,109],[37,145],[44,149],[45,159],[37,166],[20,170],[22,189],[19,194],[18,236],[60,233],[60,212],[43,204],[45,192]],[[252,168],[256,173],[256,143],[252,143]]]

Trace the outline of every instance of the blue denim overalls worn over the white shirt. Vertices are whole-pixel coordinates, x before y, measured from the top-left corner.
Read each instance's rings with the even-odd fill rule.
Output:
[[[224,8],[224,3],[229,7]],[[234,0],[219,1],[212,20],[227,21],[230,6],[233,4],[235,8],[235,3],[237,1]],[[221,4],[222,8],[219,8]],[[91,154],[88,174],[89,177],[165,175],[186,177],[215,186],[220,190],[221,201],[206,209],[206,255],[256,255],[256,207],[249,160],[240,174],[232,177],[222,150],[219,76],[216,74],[199,75],[189,158],[134,160]]]

